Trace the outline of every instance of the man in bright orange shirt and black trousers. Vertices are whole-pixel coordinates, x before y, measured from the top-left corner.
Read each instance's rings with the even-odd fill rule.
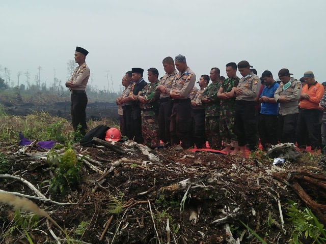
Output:
[[[299,99],[299,114],[296,125],[296,142],[301,149],[306,149],[307,140],[304,131],[308,131],[312,150],[320,146],[319,102],[324,95],[324,87],[315,80],[314,73],[304,74],[306,85],[302,88]]]

